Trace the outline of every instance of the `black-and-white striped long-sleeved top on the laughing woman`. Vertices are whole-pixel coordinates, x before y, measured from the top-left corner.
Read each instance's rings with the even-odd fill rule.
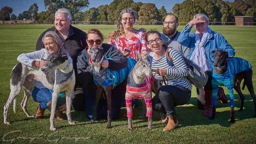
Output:
[[[184,58],[181,54],[173,49],[170,48],[168,50],[169,56],[173,59],[173,65],[169,65],[167,63],[167,57],[164,53],[163,56],[160,58],[155,58],[155,53],[151,52],[149,55],[153,57],[151,68],[152,69],[167,69],[166,70],[166,77],[168,80],[169,85],[173,86],[181,86],[185,87],[188,90],[192,89],[192,85],[190,81],[187,79],[188,76],[188,67],[185,64]],[[159,76],[157,73],[153,72],[155,75],[155,79],[162,80],[162,76]],[[167,84],[167,81],[166,81]]]

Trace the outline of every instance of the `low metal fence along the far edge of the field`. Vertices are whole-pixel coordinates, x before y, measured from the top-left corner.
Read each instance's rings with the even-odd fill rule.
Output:
[[[13,21],[0,21],[0,24],[53,24],[54,21],[31,21],[31,20],[13,20]],[[104,25],[116,25],[117,22],[109,22],[109,21],[73,21],[73,24],[104,24]],[[179,22],[180,25],[186,25],[188,22]],[[139,22],[136,21],[135,24],[141,25],[163,25],[163,22]],[[256,26],[256,22],[245,22],[236,24],[235,22],[209,22],[209,25],[244,25],[244,26]]]

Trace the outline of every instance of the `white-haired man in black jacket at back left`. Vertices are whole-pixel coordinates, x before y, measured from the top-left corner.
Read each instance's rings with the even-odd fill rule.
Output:
[[[61,8],[58,11],[56,11],[54,17],[54,27],[49,28],[40,35],[40,37],[37,40],[36,50],[41,50],[44,48],[44,43],[42,42],[42,37],[44,36],[44,34],[48,31],[55,31],[62,40],[63,48],[65,48],[65,50],[69,53],[70,57],[72,58],[75,75],[77,75],[76,59],[78,54],[87,47],[87,34],[84,31],[72,26],[71,24],[72,16],[71,12],[68,9]],[[75,99],[73,101],[73,106],[75,110],[84,110],[84,104],[79,103],[84,103],[83,95],[81,94],[83,90],[82,87],[80,88],[80,86],[78,85],[79,84],[76,83]],[[60,106],[59,109],[65,111],[65,104]]]

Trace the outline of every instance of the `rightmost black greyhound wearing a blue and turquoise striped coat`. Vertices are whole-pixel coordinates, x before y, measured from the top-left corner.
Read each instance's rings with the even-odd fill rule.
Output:
[[[242,59],[242,58],[228,58],[228,53],[222,50],[217,50],[214,53],[215,61],[214,61],[214,70],[212,74],[212,100],[213,100],[213,109],[211,119],[215,118],[216,113],[216,96],[218,91],[218,86],[225,86],[229,91],[230,96],[230,122],[235,122],[234,119],[234,92],[233,88],[237,91],[241,98],[241,106],[240,110],[243,110],[244,107],[244,95],[241,92],[241,81],[244,79],[244,86],[248,88],[250,92],[254,107],[255,107],[255,115],[256,117],[256,97],[252,84],[252,65]]]

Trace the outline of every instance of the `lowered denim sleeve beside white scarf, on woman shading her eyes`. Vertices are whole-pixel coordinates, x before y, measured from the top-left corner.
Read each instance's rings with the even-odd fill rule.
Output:
[[[229,42],[227,42],[227,40],[221,34],[219,34],[218,42],[218,47],[223,51],[229,53],[229,57],[235,56],[235,49],[229,44]]]

